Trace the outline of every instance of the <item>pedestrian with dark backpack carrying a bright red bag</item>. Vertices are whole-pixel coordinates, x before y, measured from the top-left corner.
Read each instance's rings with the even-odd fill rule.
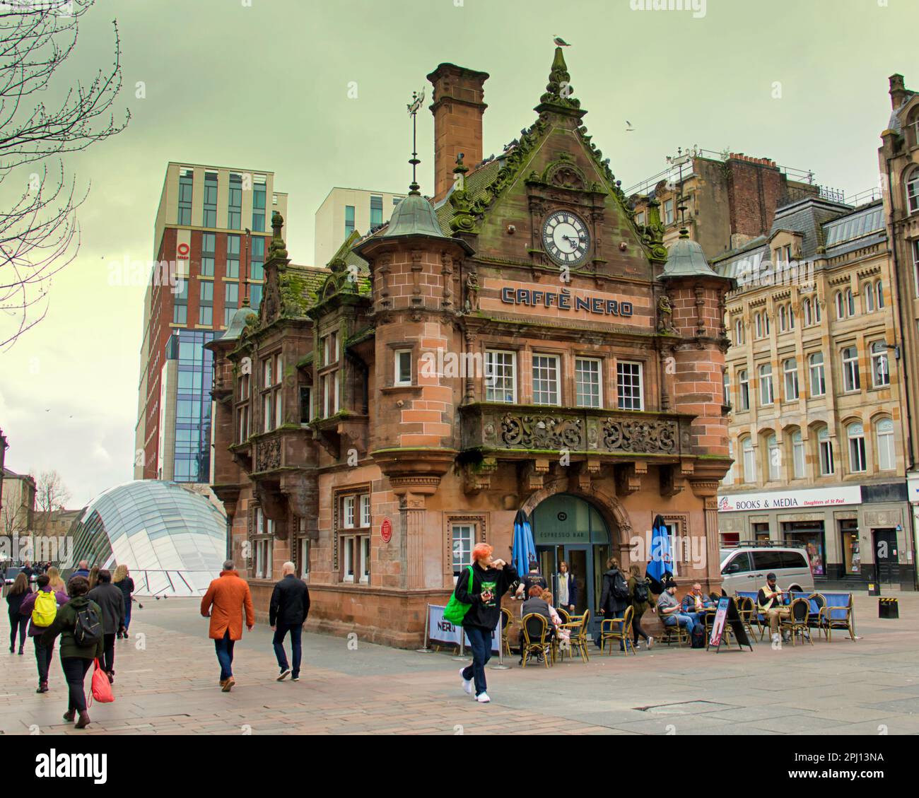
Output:
[[[67,712],[65,721],[73,721],[79,713],[75,728],[89,725],[86,713],[86,671],[93,661],[102,656],[102,610],[89,599],[89,580],[73,576],[67,583],[70,600],[57,610],[54,621],[41,634],[41,644],[51,648],[54,638],[61,635],[61,668],[67,679]]]

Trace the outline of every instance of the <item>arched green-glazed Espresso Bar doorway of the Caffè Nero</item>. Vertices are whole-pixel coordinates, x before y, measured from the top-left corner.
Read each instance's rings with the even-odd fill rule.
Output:
[[[577,584],[575,611],[589,609],[591,625],[610,556],[612,538],[600,511],[581,496],[558,493],[548,496],[532,512],[530,523],[539,559],[539,571],[558,597],[558,574],[562,560]],[[597,621],[598,622],[598,621]]]

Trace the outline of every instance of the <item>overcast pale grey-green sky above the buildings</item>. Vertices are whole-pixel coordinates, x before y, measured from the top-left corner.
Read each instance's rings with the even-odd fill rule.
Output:
[[[116,108],[133,120],[67,159],[92,182],[79,215],[83,245],[54,279],[46,319],[0,354],[7,465],[56,468],[74,507],[131,478],[143,290],[109,286],[107,263],[153,257],[167,161],[273,170],[290,197],[290,257],[311,263],[313,213],[330,188],[406,189],[405,105],[437,63],[491,74],[485,154],[535,119],[560,35],[573,45],[565,54],[585,124],[623,188],[694,144],[812,169],[848,192],[877,183],[888,75],[919,86],[916,0],[707,0],[701,17],[638,5],[98,0],[67,74],[89,76],[111,61],[117,17],[125,85]],[[357,98],[348,97],[351,81]],[[428,193],[432,133],[425,110]]]

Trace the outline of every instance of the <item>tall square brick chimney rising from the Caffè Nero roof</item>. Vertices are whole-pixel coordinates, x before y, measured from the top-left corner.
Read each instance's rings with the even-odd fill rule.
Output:
[[[475,166],[482,161],[483,85],[489,75],[441,63],[427,79],[434,85],[434,199],[443,199],[453,185],[457,155]]]

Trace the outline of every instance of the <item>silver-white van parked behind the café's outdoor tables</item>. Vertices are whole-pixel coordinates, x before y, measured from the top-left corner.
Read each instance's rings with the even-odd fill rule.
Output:
[[[807,552],[790,546],[738,546],[721,549],[721,588],[728,596],[738,590],[759,590],[766,574],[775,574],[778,587],[813,592],[813,574]]]

